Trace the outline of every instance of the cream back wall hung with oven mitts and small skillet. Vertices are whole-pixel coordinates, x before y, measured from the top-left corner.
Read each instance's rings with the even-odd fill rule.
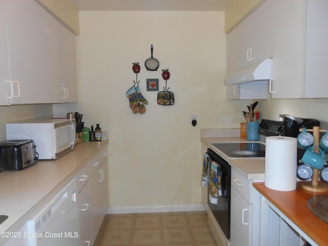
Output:
[[[200,204],[200,129],[237,128],[250,101],[226,100],[223,12],[80,12],[77,36],[79,103],[55,111],[84,114],[86,126],[110,132],[111,207]],[[158,71],[146,71],[150,46]],[[134,115],[126,92],[136,79],[149,101]],[[168,68],[173,106],[157,105],[147,78]],[[191,115],[198,124],[191,125]]]

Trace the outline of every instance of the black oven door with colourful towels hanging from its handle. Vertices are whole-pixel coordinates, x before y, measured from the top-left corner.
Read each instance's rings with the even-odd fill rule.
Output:
[[[207,160],[208,173],[211,172],[211,168],[217,169],[217,175],[209,175],[208,204],[222,232],[226,235],[227,239],[230,239],[231,166],[213,150],[208,149],[207,154],[209,156]],[[213,161],[215,161],[215,166],[212,166]],[[217,181],[211,180],[211,178],[218,179],[218,189],[214,191],[217,194],[217,199],[213,196],[211,197],[211,182]]]

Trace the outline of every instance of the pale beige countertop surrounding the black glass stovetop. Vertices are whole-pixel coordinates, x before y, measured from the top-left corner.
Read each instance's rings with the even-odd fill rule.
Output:
[[[228,132],[231,133],[231,130],[228,130]],[[221,131],[224,132],[224,129],[222,129]],[[228,158],[226,155],[224,155],[221,151],[219,151],[212,145],[214,143],[219,142],[252,142],[250,140],[246,140],[246,138],[237,137],[236,135],[238,134],[232,134],[232,136],[222,134],[223,137],[220,137],[220,134],[214,134],[216,135],[216,137],[209,137],[209,134],[206,134],[206,137],[201,137],[201,141],[207,146],[207,148],[210,148],[220,156],[226,157],[225,159],[229,162],[230,166],[236,169],[236,171],[238,171],[244,178],[257,181],[264,180],[265,157]]]

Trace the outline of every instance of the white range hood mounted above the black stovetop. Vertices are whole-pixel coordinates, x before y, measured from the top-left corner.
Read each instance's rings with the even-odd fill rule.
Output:
[[[261,63],[249,68],[237,70],[228,74],[224,84],[238,85],[258,80],[270,80],[272,78],[272,58],[265,59]]]

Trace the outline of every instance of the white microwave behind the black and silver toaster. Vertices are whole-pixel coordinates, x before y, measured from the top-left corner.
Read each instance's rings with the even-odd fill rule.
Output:
[[[7,140],[32,139],[39,159],[56,159],[76,147],[75,119],[30,119],[6,124]]]

